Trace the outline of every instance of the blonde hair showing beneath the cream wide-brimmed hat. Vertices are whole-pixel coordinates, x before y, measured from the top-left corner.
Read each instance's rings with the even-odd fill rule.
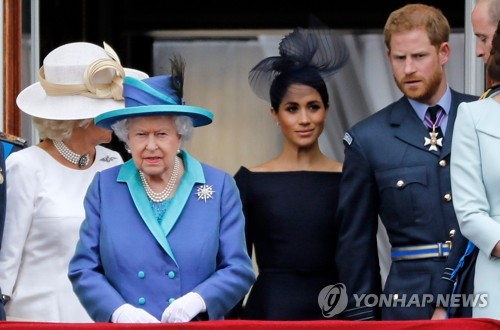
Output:
[[[94,119],[54,120],[33,117],[40,139],[63,140],[71,137],[75,127],[87,127]]]

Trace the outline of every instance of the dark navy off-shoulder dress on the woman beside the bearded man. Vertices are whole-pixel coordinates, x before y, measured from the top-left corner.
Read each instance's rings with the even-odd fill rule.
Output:
[[[335,212],[339,172],[251,172],[234,176],[259,275],[242,319],[320,320],[318,295],[337,283]]]

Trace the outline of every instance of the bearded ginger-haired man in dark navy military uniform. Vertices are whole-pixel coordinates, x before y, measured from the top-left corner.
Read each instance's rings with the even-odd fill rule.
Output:
[[[403,97],[344,136],[336,263],[349,299],[345,319],[429,319],[434,311],[424,297],[436,293],[459,231],[449,167],[453,125],[458,105],[477,99],[448,85],[449,33],[437,8],[409,4],[392,12],[384,41]],[[392,259],[383,290],[379,216]],[[355,299],[382,293],[382,304]]]

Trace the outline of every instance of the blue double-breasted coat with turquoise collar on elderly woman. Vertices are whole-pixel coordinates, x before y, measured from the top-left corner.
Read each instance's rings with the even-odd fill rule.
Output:
[[[132,160],[90,185],[69,277],[95,321],[108,322],[124,303],[160,320],[190,291],[204,299],[209,319],[221,319],[255,281],[233,178],[182,157],[186,171],[161,224]],[[198,194],[203,188],[208,194]]]

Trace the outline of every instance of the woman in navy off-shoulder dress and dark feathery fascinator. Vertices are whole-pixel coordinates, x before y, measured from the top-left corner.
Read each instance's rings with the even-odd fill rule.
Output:
[[[249,253],[259,275],[240,317],[325,319],[321,290],[336,283],[335,211],[342,164],[320,149],[328,114],[325,77],[347,61],[342,41],[328,29],[297,28],[249,74],[257,96],[271,103],[283,135],[282,151],[235,175],[246,218]]]

